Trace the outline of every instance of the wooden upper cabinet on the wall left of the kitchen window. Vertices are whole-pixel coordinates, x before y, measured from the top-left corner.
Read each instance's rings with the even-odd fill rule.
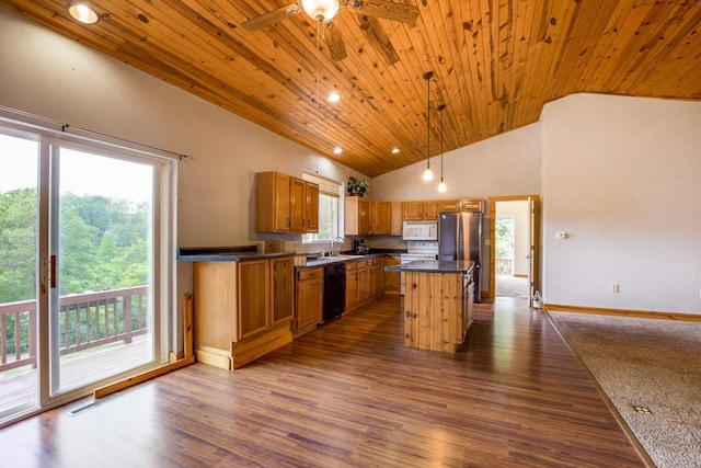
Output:
[[[256,173],[255,230],[318,232],[319,185],[279,172]]]

